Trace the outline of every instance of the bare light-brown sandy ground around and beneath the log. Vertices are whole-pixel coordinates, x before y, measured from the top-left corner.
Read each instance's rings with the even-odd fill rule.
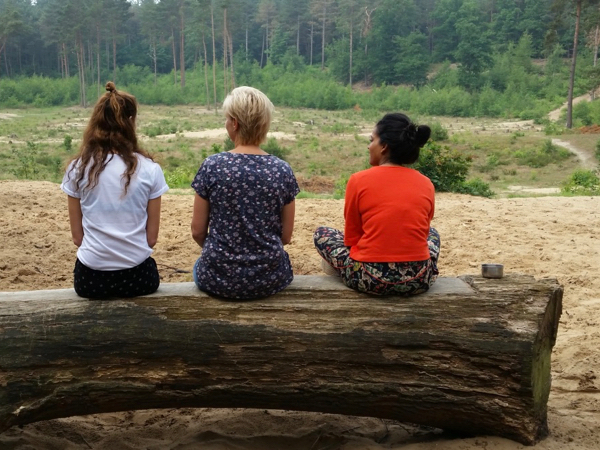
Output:
[[[342,226],[343,202],[298,200],[296,273],[318,273],[312,231]],[[190,281],[198,249],[189,233],[192,196],[165,195],[155,258],[163,281]],[[66,198],[47,182],[0,182],[0,291],[71,286],[75,246]],[[473,274],[483,262],[505,272],[555,277],[564,312],[552,361],[550,436],[536,449],[600,444],[600,197],[483,199],[437,196],[442,275]],[[247,409],[134,411],[51,420],[0,435],[0,449],[514,450],[497,437],[459,438],[393,421]]]

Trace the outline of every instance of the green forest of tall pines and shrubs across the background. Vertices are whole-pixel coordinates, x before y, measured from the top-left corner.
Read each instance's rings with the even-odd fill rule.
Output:
[[[599,82],[597,0],[0,0],[0,106],[275,104],[542,120]],[[575,33],[577,31],[577,33]],[[574,39],[576,34],[577,39]],[[576,121],[594,122],[586,107]],[[600,118],[600,117],[599,117]]]

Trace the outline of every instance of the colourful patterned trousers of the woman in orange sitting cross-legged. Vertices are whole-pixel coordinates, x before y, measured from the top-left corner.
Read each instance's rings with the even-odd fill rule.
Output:
[[[319,227],[313,236],[321,257],[333,267],[349,288],[374,295],[414,295],[426,292],[438,276],[440,235],[429,229],[431,258],[426,261],[368,263],[350,258],[340,230]]]

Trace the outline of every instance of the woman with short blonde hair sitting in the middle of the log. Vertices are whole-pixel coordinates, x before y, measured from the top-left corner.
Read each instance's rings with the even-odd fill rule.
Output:
[[[209,156],[192,182],[192,237],[202,247],[194,281],[217,297],[267,297],[293,279],[283,246],[292,239],[299,188],[289,164],[259,147],[273,114],[267,96],[238,87],[223,112],[235,148]]]

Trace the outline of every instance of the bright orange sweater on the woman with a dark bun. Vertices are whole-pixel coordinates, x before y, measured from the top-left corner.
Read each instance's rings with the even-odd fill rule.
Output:
[[[401,166],[377,166],[350,177],[344,244],[362,262],[424,261],[435,190],[426,176]]]

